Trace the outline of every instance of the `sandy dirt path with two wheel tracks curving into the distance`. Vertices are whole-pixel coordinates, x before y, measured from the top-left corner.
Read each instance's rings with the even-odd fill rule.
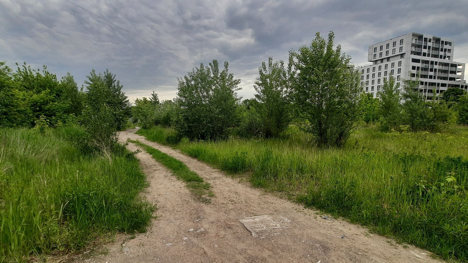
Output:
[[[146,152],[138,153],[150,187],[146,197],[157,202],[158,218],[147,233],[110,244],[108,255],[91,257],[92,262],[443,262],[429,252],[409,246],[403,248],[391,239],[370,234],[364,227],[343,220],[323,219],[316,211],[304,209],[280,197],[266,195],[232,179],[203,162],[135,134],[120,133],[120,141],[139,139],[183,161],[213,186],[211,204],[195,201],[181,181]],[[127,146],[134,151],[137,146]],[[256,233],[239,219],[270,215],[291,222]],[[267,222],[271,220],[264,220]],[[273,226],[264,223],[265,226]],[[200,231],[200,229],[202,229]],[[193,229],[193,231],[189,231]],[[342,238],[342,236],[344,236]]]

